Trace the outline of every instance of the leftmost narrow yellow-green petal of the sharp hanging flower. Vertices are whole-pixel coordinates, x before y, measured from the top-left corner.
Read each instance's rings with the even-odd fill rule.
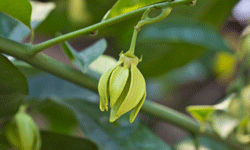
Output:
[[[117,65],[109,70],[108,72],[105,72],[98,83],[98,93],[100,95],[100,109],[101,111],[108,111],[108,100],[109,100],[109,90],[108,90],[108,85],[109,85],[109,78],[111,73],[115,68],[117,68],[119,65],[121,65],[122,61],[118,61]]]

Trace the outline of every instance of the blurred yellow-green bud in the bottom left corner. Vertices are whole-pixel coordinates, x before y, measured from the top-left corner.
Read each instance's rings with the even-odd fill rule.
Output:
[[[19,150],[39,150],[41,137],[33,119],[24,111],[19,111],[6,125],[8,142]]]

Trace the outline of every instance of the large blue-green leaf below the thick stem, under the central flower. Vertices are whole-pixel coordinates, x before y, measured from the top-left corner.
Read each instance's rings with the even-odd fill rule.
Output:
[[[30,78],[29,86],[30,98],[26,99],[26,103],[36,105],[42,102],[36,108],[46,108],[47,114],[50,112],[55,114],[52,111],[59,111],[64,117],[65,114],[74,114],[84,134],[103,149],[170,149],[138,120],[130,124],[128,114],[117,122],[110,123],[109,113],[101,112],[99,109],[98,95],[84,88],[47,74]],[[49,100],[51,102],[37,99],[40,97],[47,100],[48,97],[52,97]],[[50,111],[52,107],[54,109]],[[57,115],[60,115],[59,113]],[[74,118],[69,119],[70,117],[73,116],[67,115],[67,119],[61,121],[61,126],[74,120]]]

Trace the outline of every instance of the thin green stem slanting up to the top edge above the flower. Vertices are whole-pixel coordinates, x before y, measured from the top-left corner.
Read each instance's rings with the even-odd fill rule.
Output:
[[[150,7],[160,7],[160,6],[166,6],[166,5],[169,5],[171,7],[175,7],[175,6],[179,6],[179,5],[183,5],[183,4],[188,4],[190,2],[192,2],[192,0],[175,0],[173,2],[164,2],[164,3],[158,3],[158,4],[154,4],[154,5],[150,5],[150,6],[145,6],[145,7],[136,9],[134,11],[131,11],[131,12],[116,16],[114,18],[108,19],[106,21],[101,21],[101,22],[94,24],[92,26],[89,26],[89,27],[86,27],[86,28],[83,28],[83,29],[80,29],[80,30],[77,30],[74,32],[70,32],[70,33],[61,35],[59,37],[55,37],[53,39],[50,39],[48,41],[42,42],[40,44],[37,44],[30,50],[29,54],[34,55],[36,53],[43,51],[46,48],[49,48],[49,47],[56,45],[58,43],[61,43],[63,41],[67,41],[67,40],[79,37],[81,35],[84,35],[84,34],[90,34],[96,30],[105,28],[107,26],[121,22],[121,21],[129,19],[131,17],[135,17],[139,14],[142,14],[144,11],[146,11]]]

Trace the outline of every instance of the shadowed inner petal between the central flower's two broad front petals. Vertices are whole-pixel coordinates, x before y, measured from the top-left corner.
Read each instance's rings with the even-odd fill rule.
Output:
[[[117,111],[119,110],[123,100],[126,98],[126,96],[128,94],[129,87],[130,87],[130,80],[131,80],[131,78],[129,77],[120,97],[117,99],[117,102],[111,108],[110,118],[109,118],[110,122],[114,122],[116,119],[118,119],[121,116],[121,115],[116,115],[116,114],[117,114]]]

